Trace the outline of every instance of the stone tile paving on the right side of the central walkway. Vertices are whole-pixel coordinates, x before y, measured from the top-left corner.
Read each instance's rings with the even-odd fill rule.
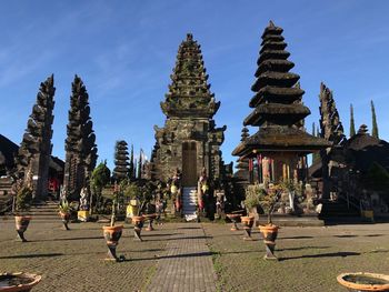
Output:
[[[283,228],[276,254],[262,259],[265,246],[243,241],[243,231],[202,224],[213,253],[219,291],[346,291],[336,278],[342,272],[389,274],[389,224]]]

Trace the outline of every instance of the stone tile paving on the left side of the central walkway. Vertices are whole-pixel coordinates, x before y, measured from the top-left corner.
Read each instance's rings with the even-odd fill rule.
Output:
[[[129,261],[107,262],[107,245],[102,224],[70,224],[61,230],[61,222],[31,221],[26,232],[30,242],[16,242],[13,221],[0,221],[0,272],[26,271],[42,274],[33,291],[144,291],[156,269],[159,253],[164,251],[173,225],[143,231],[143,242],[133,241],[133,231],[124,225],[118,254]]]

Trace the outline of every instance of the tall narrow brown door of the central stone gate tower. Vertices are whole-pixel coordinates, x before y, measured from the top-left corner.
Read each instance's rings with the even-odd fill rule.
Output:
[[[182,187],[197,185],[197,144],[182,143]]]

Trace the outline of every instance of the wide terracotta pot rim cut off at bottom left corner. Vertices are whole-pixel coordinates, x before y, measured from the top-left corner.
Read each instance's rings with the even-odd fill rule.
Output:
[[[30,291],[41,279],[41,275],[30,273],[2,273],[0,274],[0,291]]]

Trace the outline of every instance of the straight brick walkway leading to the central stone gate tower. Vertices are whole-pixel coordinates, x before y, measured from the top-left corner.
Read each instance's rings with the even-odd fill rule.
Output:
[[[212,254],[201,224],[178,225],[147,291],[216,291]]]

